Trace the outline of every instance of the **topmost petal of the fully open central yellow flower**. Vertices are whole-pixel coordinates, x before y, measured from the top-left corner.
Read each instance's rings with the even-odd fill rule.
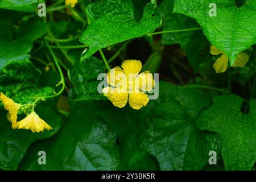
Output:
[[[138,75],[138,73],[141,71],[142,63],[138,60],[125,60],[122,63],[122,68],[127,77],[129,76],[129,73]]]

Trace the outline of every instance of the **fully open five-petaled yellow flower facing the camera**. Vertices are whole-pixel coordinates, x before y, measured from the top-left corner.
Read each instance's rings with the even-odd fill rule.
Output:
[[[126,105],[128,97],[129,104],[133,109],[141,109],[148,102],[147,94],[155,86],[155,81],[150,72],[139,74],[142,68],[141,61],[126,60],[122,68],[114,67],[108,73],[108,86],[102,91],[114,106],[122,108]],[[143,92],[142,92],[143,91]]]

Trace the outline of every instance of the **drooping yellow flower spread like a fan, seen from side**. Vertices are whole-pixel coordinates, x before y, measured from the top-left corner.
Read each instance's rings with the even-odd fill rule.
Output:
[[[26,118],[22,119],[22,121],[19,121],[16,124],[16,127],[18,127],[18,129],[31,130],[33,133],[39,133],[40,131],[44,131],[44,129],[52,129],[52,127],[49,126],[45,121],[43,121],[43,119],[41,119],[39,115],[35,113],[35,111],[32,111],[32,113],[27,115]]]

